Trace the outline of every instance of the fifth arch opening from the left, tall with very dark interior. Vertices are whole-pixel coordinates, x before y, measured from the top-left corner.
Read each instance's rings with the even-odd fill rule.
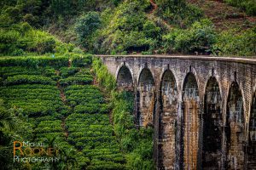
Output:
[[[203,169],[220,169],[222,154],[222,110],[218,82],[211,77],[207,82],[203,115]]]

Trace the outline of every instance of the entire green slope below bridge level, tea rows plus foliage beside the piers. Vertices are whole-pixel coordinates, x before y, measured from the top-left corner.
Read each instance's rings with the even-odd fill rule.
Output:
[[[94,62],[96,72],[92,73],[90,55],[0,59],[0,135],[4,141],[0,164],[3,169],[154,167],[152,132],[150,128],[135,128],[132,94],[114,92],[113,77],[99,60]],[[101,82],[112,88],[112,96],[102,94],[104,89],[93,84],[96,82],[93,74],[101,78],[102,72],[104,78],[106,74],[108,78]],[[8,127],[8,123],[12,126]],[[60,154],[56,157],[60,160],[13,163],[13,150],[9,147],[15,140],[58,148]]]

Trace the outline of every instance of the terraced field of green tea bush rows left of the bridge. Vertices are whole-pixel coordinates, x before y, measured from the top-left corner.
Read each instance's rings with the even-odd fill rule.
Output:
[[[0,59],[0,98],[24,122],[20,140],[58,147],[60,161],[47,165],[53,169],[125,169],[109,105],[92,84],[91,57],[45,58]]]

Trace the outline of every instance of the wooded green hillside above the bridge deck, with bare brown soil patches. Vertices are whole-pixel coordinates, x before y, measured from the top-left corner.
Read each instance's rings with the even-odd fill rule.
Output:
[[[255,3],[239,2],[2,1],[0,54],[255,55]]]

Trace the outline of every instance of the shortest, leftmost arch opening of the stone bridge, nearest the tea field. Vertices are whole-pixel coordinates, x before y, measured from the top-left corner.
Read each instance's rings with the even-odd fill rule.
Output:
[[[128,90],[133,89],[133,80],[131,76],[131,71],[127,66],[123,65],[119,69],[119,73],[117,76],[117,83],[119,88],[124,88]]]

